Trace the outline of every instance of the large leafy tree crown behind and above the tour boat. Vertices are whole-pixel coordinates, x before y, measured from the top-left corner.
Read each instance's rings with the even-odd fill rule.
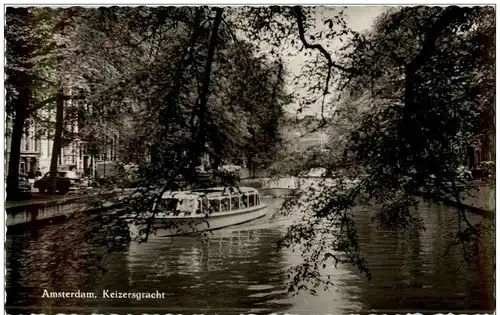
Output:
[[[137,14],[162,19],[157,34],[135,25]],[[130,158],[124,162],[154,167],[150,173],[159,178],[166,175],[165,163],[176,164],[172,162],[182,159],[186,148],[193,146],[203,148],[215,169],[223,162],[271,158],[269,148],[276,148],[277,120],[287,98],[283,92],[285,70],[279,62],[254,57],[250,45],[231,43],[225,24],[220,26],[212,63],[209,106],[204,116],[199,112],[211,34],[205,19],[210,14],[205,8],[88,12],[79,39],[81,50],[87,52],[80,67],[95,73],[91,76],[87,71],[89,82],[104,83],[89,84],[89,141],[104,149],[107,143],[103,139],[119,134],[121,150]],[[115,21],[122,26],[106,28],[118,23]],[[206,128],[205,143],[192,145],[201,123]],[[259,157],[264,152],[267,156]],[[153,156],[151,165],[145,158],[149,154]]]

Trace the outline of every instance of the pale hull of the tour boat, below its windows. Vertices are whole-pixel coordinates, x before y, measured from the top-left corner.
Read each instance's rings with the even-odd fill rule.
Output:
[[[159,237],[199,233],[253,221],[265,216],[266,213],[267,205],[260,204],[251,209],[219,212],[199,217],[157,217],[152,220],[150,233]],[[140,233],[144,233],[139,231],[143,231],[145,228],[145,224],[131,224],[130,237],[132,240],[140,240]]]

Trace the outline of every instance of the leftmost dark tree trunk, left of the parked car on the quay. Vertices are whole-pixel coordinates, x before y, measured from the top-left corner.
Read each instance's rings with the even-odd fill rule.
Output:
[[[21,105],[25,97],[19,99]],[[26,100],[27,101],[27,100]],[[19,194],[19,160],[21,159],[21,139],[23,137],[24,123],[26,121],[25,109],[21,106],[16,111],[14,125],[12,126],[12,139],[9,154],[9,173],[7,175],[7,199],[17,199]]]

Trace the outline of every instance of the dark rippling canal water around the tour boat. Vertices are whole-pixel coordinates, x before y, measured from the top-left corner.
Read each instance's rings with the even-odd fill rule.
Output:
[[[380,228],[369,210],[360,209],[356,220],[372,279],[339,266],[326,271],[334,282],[329,290],[292,295],[286,291],[287,270],[300,257],[276,245],[290,222],[271,218],[282,200],[264,202],[268,217],[208,238],[153,237],[107,255],[86,232],[85,218],[81,230],[59,223],[9,232],[7,313],[484,313],[494,308],[494,238],[483,240],[476,263],[464,262],[459,247],[447,252],[457,226],[453,208],[422,205],[418,213],[426,230],[405,233]],[[50,299],[42,297],[44,290],[95,292],[96,298]],[[165,297],[103,299],[102,290],[158,290]]]

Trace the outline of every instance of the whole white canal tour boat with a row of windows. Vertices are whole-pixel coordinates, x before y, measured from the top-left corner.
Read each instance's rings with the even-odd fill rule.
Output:
[[[130,234],[141,239],[146,233],[176,236],[215,230],[263,217],[266,207],[251,187],[167,191],[152,212],[134,219]]]

